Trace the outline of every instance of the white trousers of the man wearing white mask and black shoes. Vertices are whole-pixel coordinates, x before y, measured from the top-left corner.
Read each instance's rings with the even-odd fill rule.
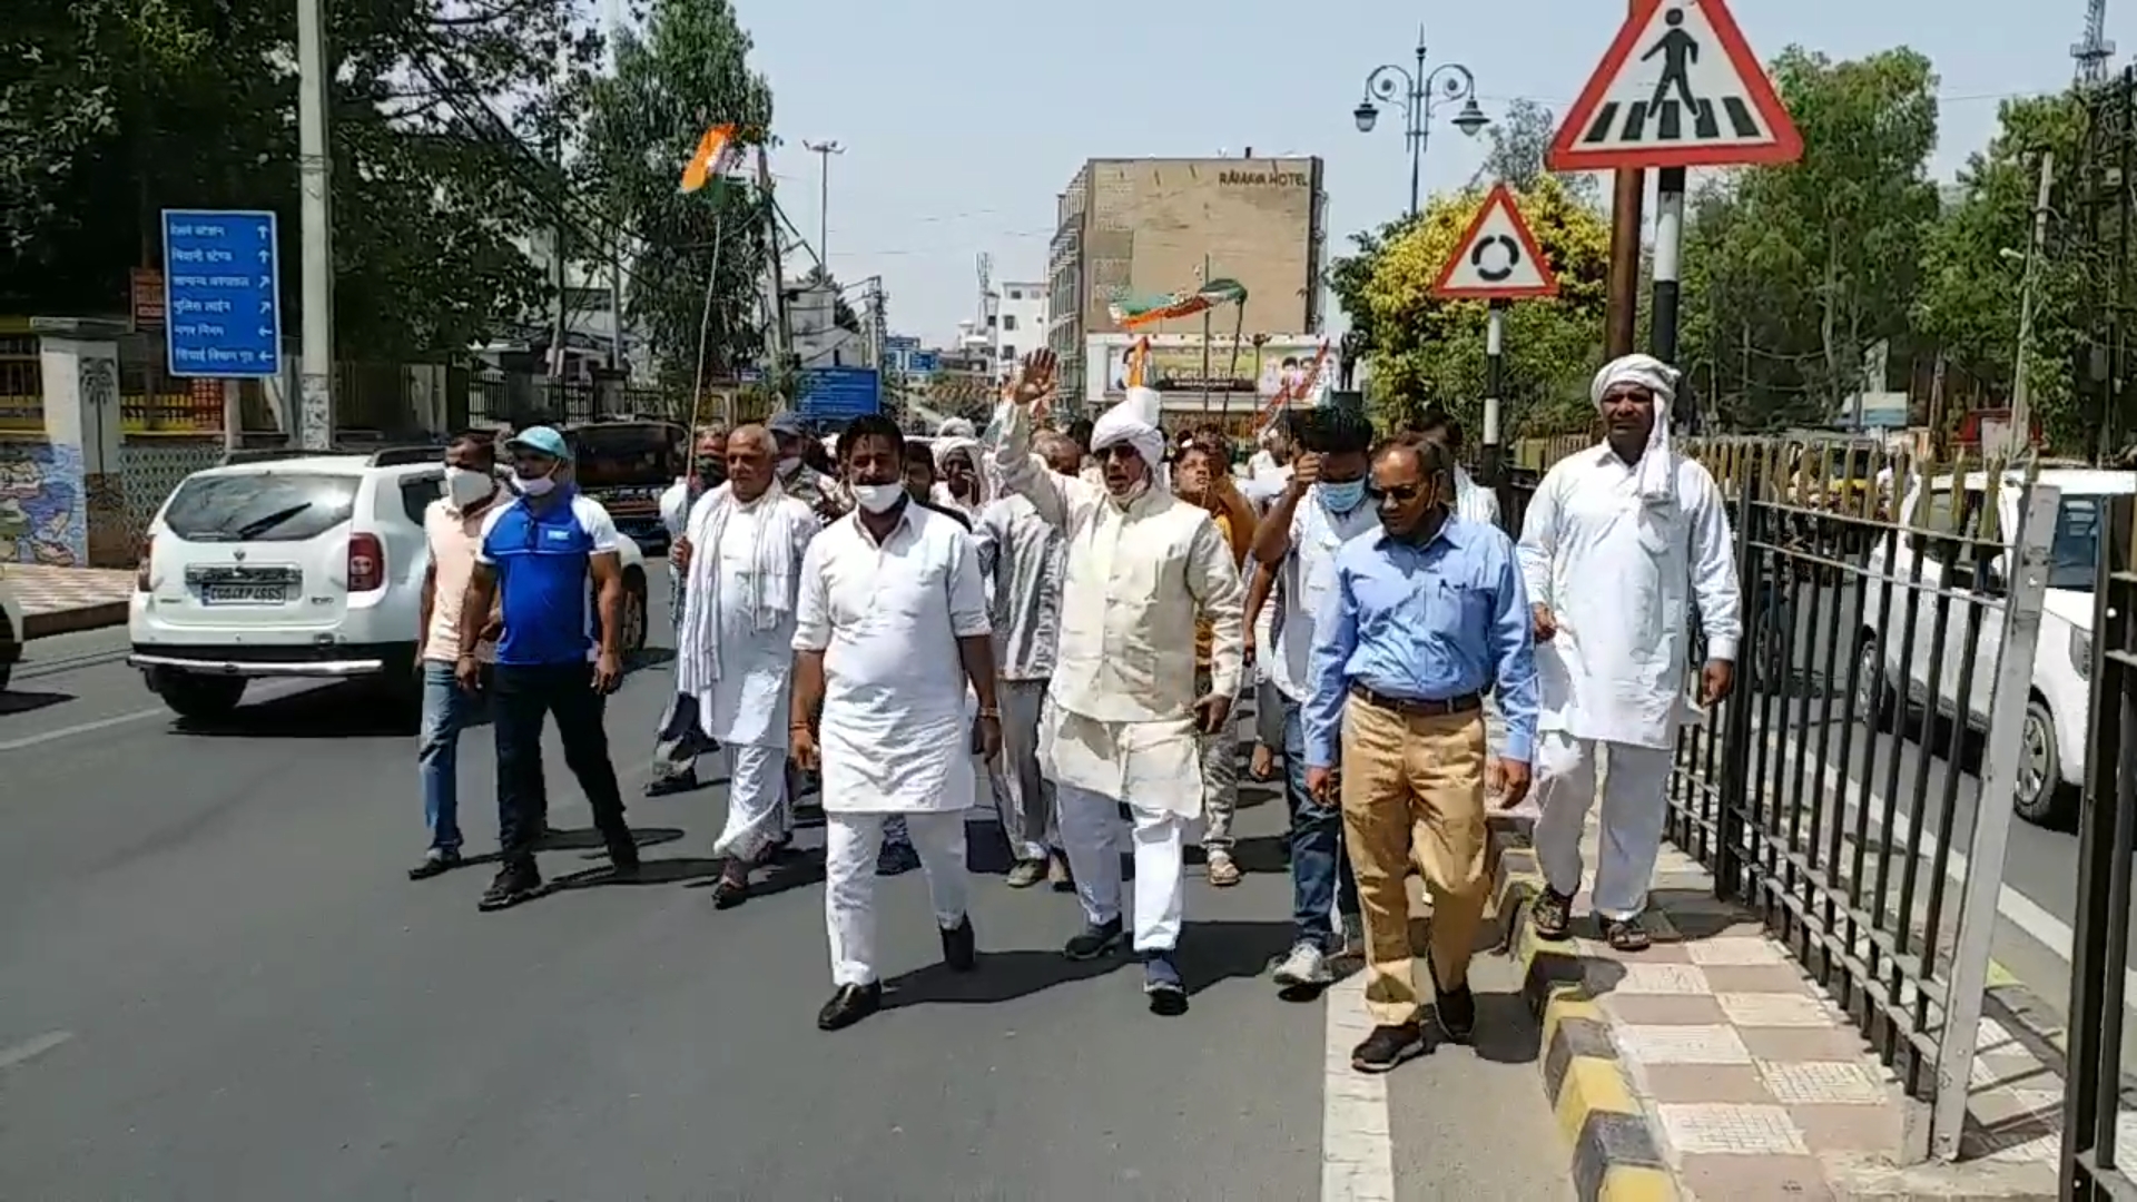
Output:
[[[831,984],[865,986],[876,980],[876,853],[883,851],[880,813],[825,813],[823,922],[831,935]],[[912,849],[921,853],[936,926],[964,922],[968,894],[964,868],[964,813],[904,815]]]

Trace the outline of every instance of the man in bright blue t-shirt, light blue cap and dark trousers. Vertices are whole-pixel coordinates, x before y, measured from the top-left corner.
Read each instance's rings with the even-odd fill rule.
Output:
[[[498,843],[504,866],[483,894],[481,909],[504,909],[541,894],[534,847],[549,813],[541,774],[541,727],[547,714],[556,714],[564,764],[586,789],[615,875],[626,877],[639,868],[639,847],[624,826],[624,798],[603,727],[603,699],[624,678],[618,642],[624,607],[618,556],[622,539],[609,511],[571,486],[571,449],[562,434],[532,426],[506,441],[504,451],[513,460],[519,498],[492,509],[483,522],[464,610],[483,618],[496,599],[504,616],[492,669]],[[600,616],[598,637],[588,614],[590,592],[596,595],[594,610]],[[455,674],[470,691],[481,672],[474,659],[481,627],[481,620],[462,622]]]

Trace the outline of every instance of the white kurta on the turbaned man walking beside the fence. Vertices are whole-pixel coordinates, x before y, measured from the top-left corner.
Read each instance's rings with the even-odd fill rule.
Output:
[[[1558,622],[1537,644],[1537,727],[1673,746],[1688,605],[1712,659],[1733,661],[1742,633],[1729,513],[1707,468],[1680,458],[1673,496],[1650,500],[1609,445],[1569,456],[1528,503],[1519,558],[1528,599]]]

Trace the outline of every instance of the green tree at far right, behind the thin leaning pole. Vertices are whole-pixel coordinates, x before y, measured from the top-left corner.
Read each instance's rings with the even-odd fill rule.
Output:
[[[1945,353],[1957,385],[1953,396],[1992,402],[2011,396],[2041,154],[2054,154],[2056,173],[2069,180],[2079,165],[2084,133],[2086,105],[2075,92],[2005,101],[1996,137],[1968,158],[1960,171],[1960,195],[1923,240],[1915,325]],[[2069,207],[2052,197],[2052,216]],[[2086,342],[2079,306],[2092,282],[2090,259],[2075,227],[2056,220],[2049,233],[2047,252],[2034,267],[2028,402],[2049,438],[2088,447],[2071,389],[2071,359]],[[1957,409],[1953,404],[1953,413]]]

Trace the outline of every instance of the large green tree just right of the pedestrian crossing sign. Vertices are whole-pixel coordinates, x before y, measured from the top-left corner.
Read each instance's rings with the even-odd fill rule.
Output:
[[[1686,225],[1680,355],[1746,426],[1842,417],[1878,342],[1908,336],[1936,186],[1936,73],[1900,47],[1851,62],[1789,47],[1774,79],[1804,158],[1701,192]]]

